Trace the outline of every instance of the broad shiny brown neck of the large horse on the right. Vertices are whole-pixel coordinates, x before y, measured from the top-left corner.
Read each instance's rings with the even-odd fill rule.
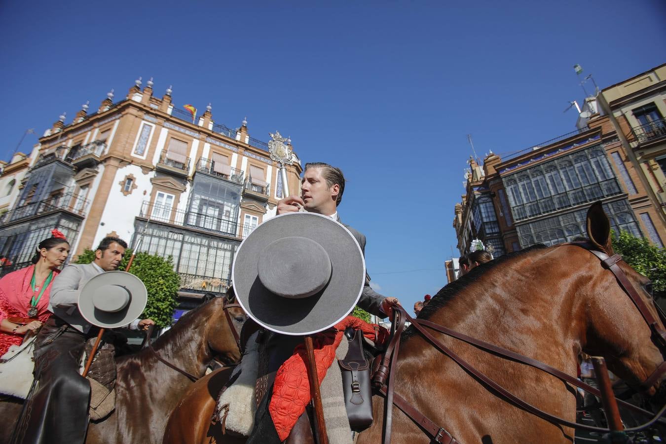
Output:
[[[575,363],[572,350],[579,349],[583,330],[577,315],[582,304],[573,298],[571,269],[561,270],[559,276],[555,270],[559,256],[557,249],[549,248],[520,254],[495,266],[488,264],[466,276],[467,284],[428,319],[571,371],[568,367]],[[580,325],[572,325],[577,323]],[[439,333],[436,336],[460,345]],[[410,349],[408,345],[405,348]],[[565,362],[567,368],[561,368]]]

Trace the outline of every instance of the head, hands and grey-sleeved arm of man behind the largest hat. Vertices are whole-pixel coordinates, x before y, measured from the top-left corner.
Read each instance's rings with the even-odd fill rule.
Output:
[[[300,208],[312,213],[322,214],[342,224],[338,215],[338,205],[342,201],[344,192],[344,176],[340,168],[329,164],[316,162],[305,165],[301,179],[300,196],[288,196],[278,202],[278,214],[297,212]],[[343,224],[351,233],[361,251],[366,252],[366,236]],[[363,287],[358,306],[380,318],[392,316],[392,304],[398,302],[397,298],[386,298],[370,288],[370,276],[366,274],[366,283]]]

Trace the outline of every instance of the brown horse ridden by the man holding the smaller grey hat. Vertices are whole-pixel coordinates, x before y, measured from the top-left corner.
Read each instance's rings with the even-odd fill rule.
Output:
[[[240,331],[245,315],[240,308],[223,308],[226,298],[215,298],[192,310],[159,337],[151,348],[119,357],[116,380],[116,409],[102,421],[91,423],[87,443],[159,443],[166,420],[192,381],[168,367],[200,378],[206,365],[218,356],[232,363],[240,359],[231,329]],[[227,317],[225,312],[228,312]],[[230,319],[233,325],[228,324]],[[0,417],[15,423],[21,403],[0,403]],[[2,427],[0,442],[9,440],[11,427]]]

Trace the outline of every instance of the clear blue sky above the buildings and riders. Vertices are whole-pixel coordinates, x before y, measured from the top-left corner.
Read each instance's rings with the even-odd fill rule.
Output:
[[[660,0],[315,3],[3,1],[0,156],[155,77],[179,107],[340,166],[370,275],[411,305],[446,284],[466,134],[479,156],[533,146],[575,130],[574,63],[605,87],[666,61]]]

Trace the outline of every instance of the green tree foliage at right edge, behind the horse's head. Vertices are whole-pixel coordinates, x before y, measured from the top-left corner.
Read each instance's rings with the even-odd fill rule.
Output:
[[[621,231],[619,236],[612,234],[613,250],[622,256],[634,270],[652,281],[655,296],[666,292],[666,250],[650,244],[645,238],[637,238]]]

